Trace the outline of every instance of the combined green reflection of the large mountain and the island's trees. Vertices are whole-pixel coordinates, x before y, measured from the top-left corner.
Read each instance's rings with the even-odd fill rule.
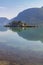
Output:
[[[13,32],[17,32],[19,36],[27,40],[43,42],[43,27],[29,28],[29,27],[11,27]]]

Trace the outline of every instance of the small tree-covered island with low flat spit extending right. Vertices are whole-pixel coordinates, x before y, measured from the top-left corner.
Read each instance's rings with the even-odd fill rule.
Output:
[[[13,21],[5,27],[36,27],[35,25],[29,25],[28,23],[22,22],[22,21]]]

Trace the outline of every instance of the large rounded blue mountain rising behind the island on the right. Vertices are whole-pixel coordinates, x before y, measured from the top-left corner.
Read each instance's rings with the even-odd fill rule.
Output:
[[[28,24],[42,24],[43,23],[43,7],[29,8],[20,12],[17,17],[10,21],[23,21]]]

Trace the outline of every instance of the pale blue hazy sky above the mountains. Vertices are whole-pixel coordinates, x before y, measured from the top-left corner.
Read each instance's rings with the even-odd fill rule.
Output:
[[[0,0],[0,17],[13,18],[25,9],[43,6],[43,0]]]

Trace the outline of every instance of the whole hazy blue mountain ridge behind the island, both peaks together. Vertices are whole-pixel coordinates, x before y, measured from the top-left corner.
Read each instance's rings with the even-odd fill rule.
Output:
[[[0,17],[0,26],[4,26],[13,21],[22,21],[31,25],[43,25],[43,7],[26,9],[20,12],[17,17],[10,20],[5,17]]]

